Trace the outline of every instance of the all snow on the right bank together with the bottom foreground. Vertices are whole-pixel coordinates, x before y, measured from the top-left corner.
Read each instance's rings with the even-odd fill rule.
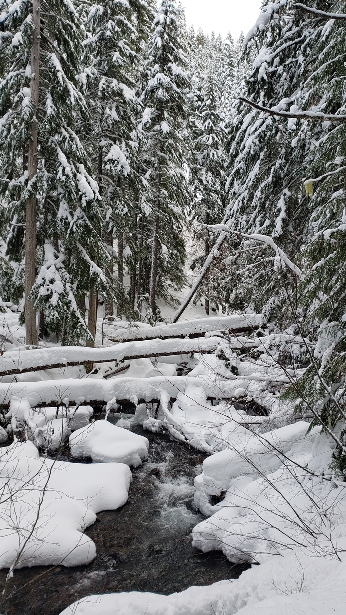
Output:
[[[307,436],[307,427],[301,421],[258,437],[235,425],[232,449],[206,458],[196,478],[197,505],[211,517],[195,526],[194,545],[260,566],[169,596],[85,597],[60,615],[344,614],[345,485],[329,481],[331,440],[320,427]],[[224,490],[223,501],[208,504]]]

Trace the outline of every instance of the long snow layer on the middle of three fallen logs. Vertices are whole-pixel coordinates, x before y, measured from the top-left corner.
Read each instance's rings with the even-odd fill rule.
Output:
[[[131,341],[105,348],[84,346],[58,346],[34,350],[19,349],[5,352],[0,358],[0,377],[22,374],[28,371],[52,370],[73,367],[85,363],[120,363],[133,359],[171,357],[194,353],[214,352],[220,338],[203,339],[149,339]]]

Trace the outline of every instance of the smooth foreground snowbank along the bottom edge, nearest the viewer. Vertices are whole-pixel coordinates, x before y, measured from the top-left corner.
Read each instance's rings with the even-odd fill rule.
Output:
[[[286,552],[236,581],[169,596],[111,593],[77,601],[60,615],[344,615],[346,562]]]

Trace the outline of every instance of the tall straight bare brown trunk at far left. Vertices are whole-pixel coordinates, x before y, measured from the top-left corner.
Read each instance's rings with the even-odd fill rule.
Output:
[[[40,0],[33,0],[33,47],[31,49],[31,100],[36,109],[39,103],[39,35]],[[37,119],[31,124],[31,139],[28,146],[28,179],[33,180],[37,172]],[[25,337],[26,344],[37,345],[36,312],[29,299],[34,285],[36,271],[36,194],[26,201],[25,213]]]

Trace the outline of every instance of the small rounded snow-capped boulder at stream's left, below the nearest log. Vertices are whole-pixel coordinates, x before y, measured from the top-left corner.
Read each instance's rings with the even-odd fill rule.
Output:
[[[69,437],[73,457],[91,457],[93,463],[120,462],[138,467],[147,457],[149,441],[108,421],[96,421]]]

